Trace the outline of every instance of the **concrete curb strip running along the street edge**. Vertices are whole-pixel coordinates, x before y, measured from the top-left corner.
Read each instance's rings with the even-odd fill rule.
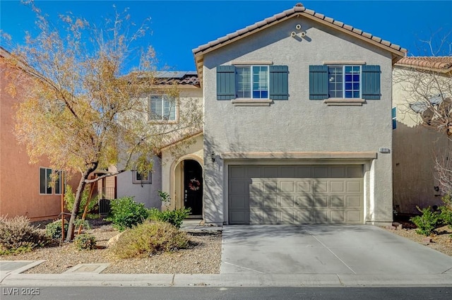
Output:
[[[441,275],[10,274],[9,287],[452,287]]]

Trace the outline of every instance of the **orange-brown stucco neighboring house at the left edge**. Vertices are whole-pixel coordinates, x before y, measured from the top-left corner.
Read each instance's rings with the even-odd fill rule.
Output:
[[[0,47],[0,215],[23,215],[30,220],[51,219],[61,212],[61,172],[50,169],[49,161],[44,157],[38,164],[30,164],[25,146],[18,145],[13,134],[16,104],[20,102],[27,83],[12,83],[8,78],[9,72],[17,71],[5,62],[10,56]],[[11,85],[16,86],[15,97],[8,92]],[[53,171],[59,172],[59,176],[51,187],[49,182]],[[66,182],[76,186],[72,181]]]

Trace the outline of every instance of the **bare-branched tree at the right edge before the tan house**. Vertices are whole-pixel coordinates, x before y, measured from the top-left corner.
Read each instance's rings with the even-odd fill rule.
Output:
[[[452,138],[452,32],[437,38],[421,40],[429,56],[405,57],[398,61],[393,72],[394,86],[403,90],[405,116],[413,124],[422,124],[433,131]],[[440,56],[438,56],[440,55]],[[432,149],[434,145],[432,145]],[[436,179],[443,193],[452,192],[451,148],[436,149]],[[433,167],[433,166],[432,166]]]

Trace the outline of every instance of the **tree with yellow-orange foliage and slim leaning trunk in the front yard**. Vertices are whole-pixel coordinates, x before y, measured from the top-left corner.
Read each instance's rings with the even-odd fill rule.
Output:
[[[21,70],[11,73],[16,85],[30,74],[34,78],[18,106],[16,136],[30,160],[45,155],[54,169],[80,174],[66,238],[70,241],[85,186],[127,169],[150,171],[161,145],[200,130],[201,108],[195,102],[184,104],[191,113],[177,124],[150,117],[151,91],[171,95],[172,109],[182,104],[177,85],[162,90],[155,84],[153,48],[137,44],[148,34],[148,20],[136,26],[126,11],[115,11],[99,25],[69,13],[54,25],[38,8],[32,9],[40,33],[28,34],[9,61]],[[15,86],[8,90],[13,95]],[[92,178],[111,165],[121,167]]]

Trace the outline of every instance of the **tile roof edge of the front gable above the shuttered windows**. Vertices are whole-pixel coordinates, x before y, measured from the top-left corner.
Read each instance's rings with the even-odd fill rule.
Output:
[[[243,37],[251,35],[254,32],[268,28],[269,26],[271,26],[275,23],[279,23],[283,20],[287,20],[287,19],[295,17],[295,16],[304,16],[311,20],[315,20],[319,23],[328,25],[331,28],[335,28],[337,30],[346,32],[350,35],[354,35],[355,37],[361,38],[362,40],[365,40],[372,44],[376,44],[377,46],[382,47],[383,49],[386,49],[386,50],[392,52],[393,55],[396,56],[393,59],[394,62],[397,61],[398,59],[400,59],[400,57],[405,56],[407,53],[407,50],[400,47],[398,44],[393,44],[386,40],[382,40],[381,37],[376,37],[374,35],[371,35],[369,32],[364,32],[362,30],[359,30],[358,28],[354,28],[351,25],[347,25],[338,20],[334,20],[333,18],[324,16],[321,13],[316,13],[315,11],[312,11],[311,9],[305,8],[303,6],[303,4],[298,3],[294,7],[287,9],[286,11],[283,11],[282,13],[277,13],[270,18],[261,20],[260,22],[247,26],[246,28],[237,30],[236,32],[232,32],[228,35],[225,35],[224,37],[220,37],[217,40],[208,42],[207,44],[203,44],[203,45],[193,49],[192,52],[195,56],[196,68],[198,69],[198,73],[200,74],[201,80],[202,80],[202,69],[200,67],[203,64],[203,57],[202,57],[203,54],[206,54],[210,51],[218,49],[219,47],[222,47],[225,44],[229,44],[230,42],[234,42]]]

